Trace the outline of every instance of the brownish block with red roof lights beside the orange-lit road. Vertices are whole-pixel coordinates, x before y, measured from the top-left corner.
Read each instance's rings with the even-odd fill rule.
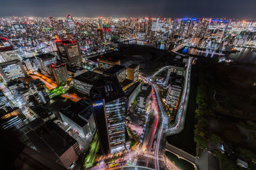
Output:
[[[51,64],[48,67],[51,75],[54,77],[54,80],[58,83],[65,83],[70,76],[68,75],[68,70],[66,64]]]

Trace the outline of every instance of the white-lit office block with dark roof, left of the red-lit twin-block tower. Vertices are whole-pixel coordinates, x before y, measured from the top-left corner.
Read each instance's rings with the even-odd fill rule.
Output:
[[[36,60],[38,63],[38,67],[41,69],[42,73],[44,74],[51,74],[48,66],[51,64],[56,63],[56,58],[51,53],[43,53],[40,55],[36,55]]]

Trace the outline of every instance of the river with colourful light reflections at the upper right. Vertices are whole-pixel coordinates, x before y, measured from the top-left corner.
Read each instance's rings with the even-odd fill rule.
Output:
[[[242,48],[242,47],[235,47],[235,50],[239,52],[236,53],[225,53],[225,52],[218,52],[214,50],[198,50],[196,48],[190,48],[186,46],[180,53],[188,53],[189,55],[198,55],[202,57],[211,57],[214,59],[223,59],[242,62],[246,64],[256,64],[256,49],[253,48]]]

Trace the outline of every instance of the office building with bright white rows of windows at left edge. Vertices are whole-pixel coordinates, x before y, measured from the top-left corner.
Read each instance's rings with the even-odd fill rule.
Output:
[[[24,66],[19,60],[0,63],[0,74],[5,83],[27,76]]]

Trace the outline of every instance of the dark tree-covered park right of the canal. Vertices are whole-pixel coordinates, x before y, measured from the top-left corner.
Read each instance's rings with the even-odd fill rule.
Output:
[[[256,168],[256,67],[199,64],[195,142],[216,153],[220,169],[237,169],[236,159]]]

